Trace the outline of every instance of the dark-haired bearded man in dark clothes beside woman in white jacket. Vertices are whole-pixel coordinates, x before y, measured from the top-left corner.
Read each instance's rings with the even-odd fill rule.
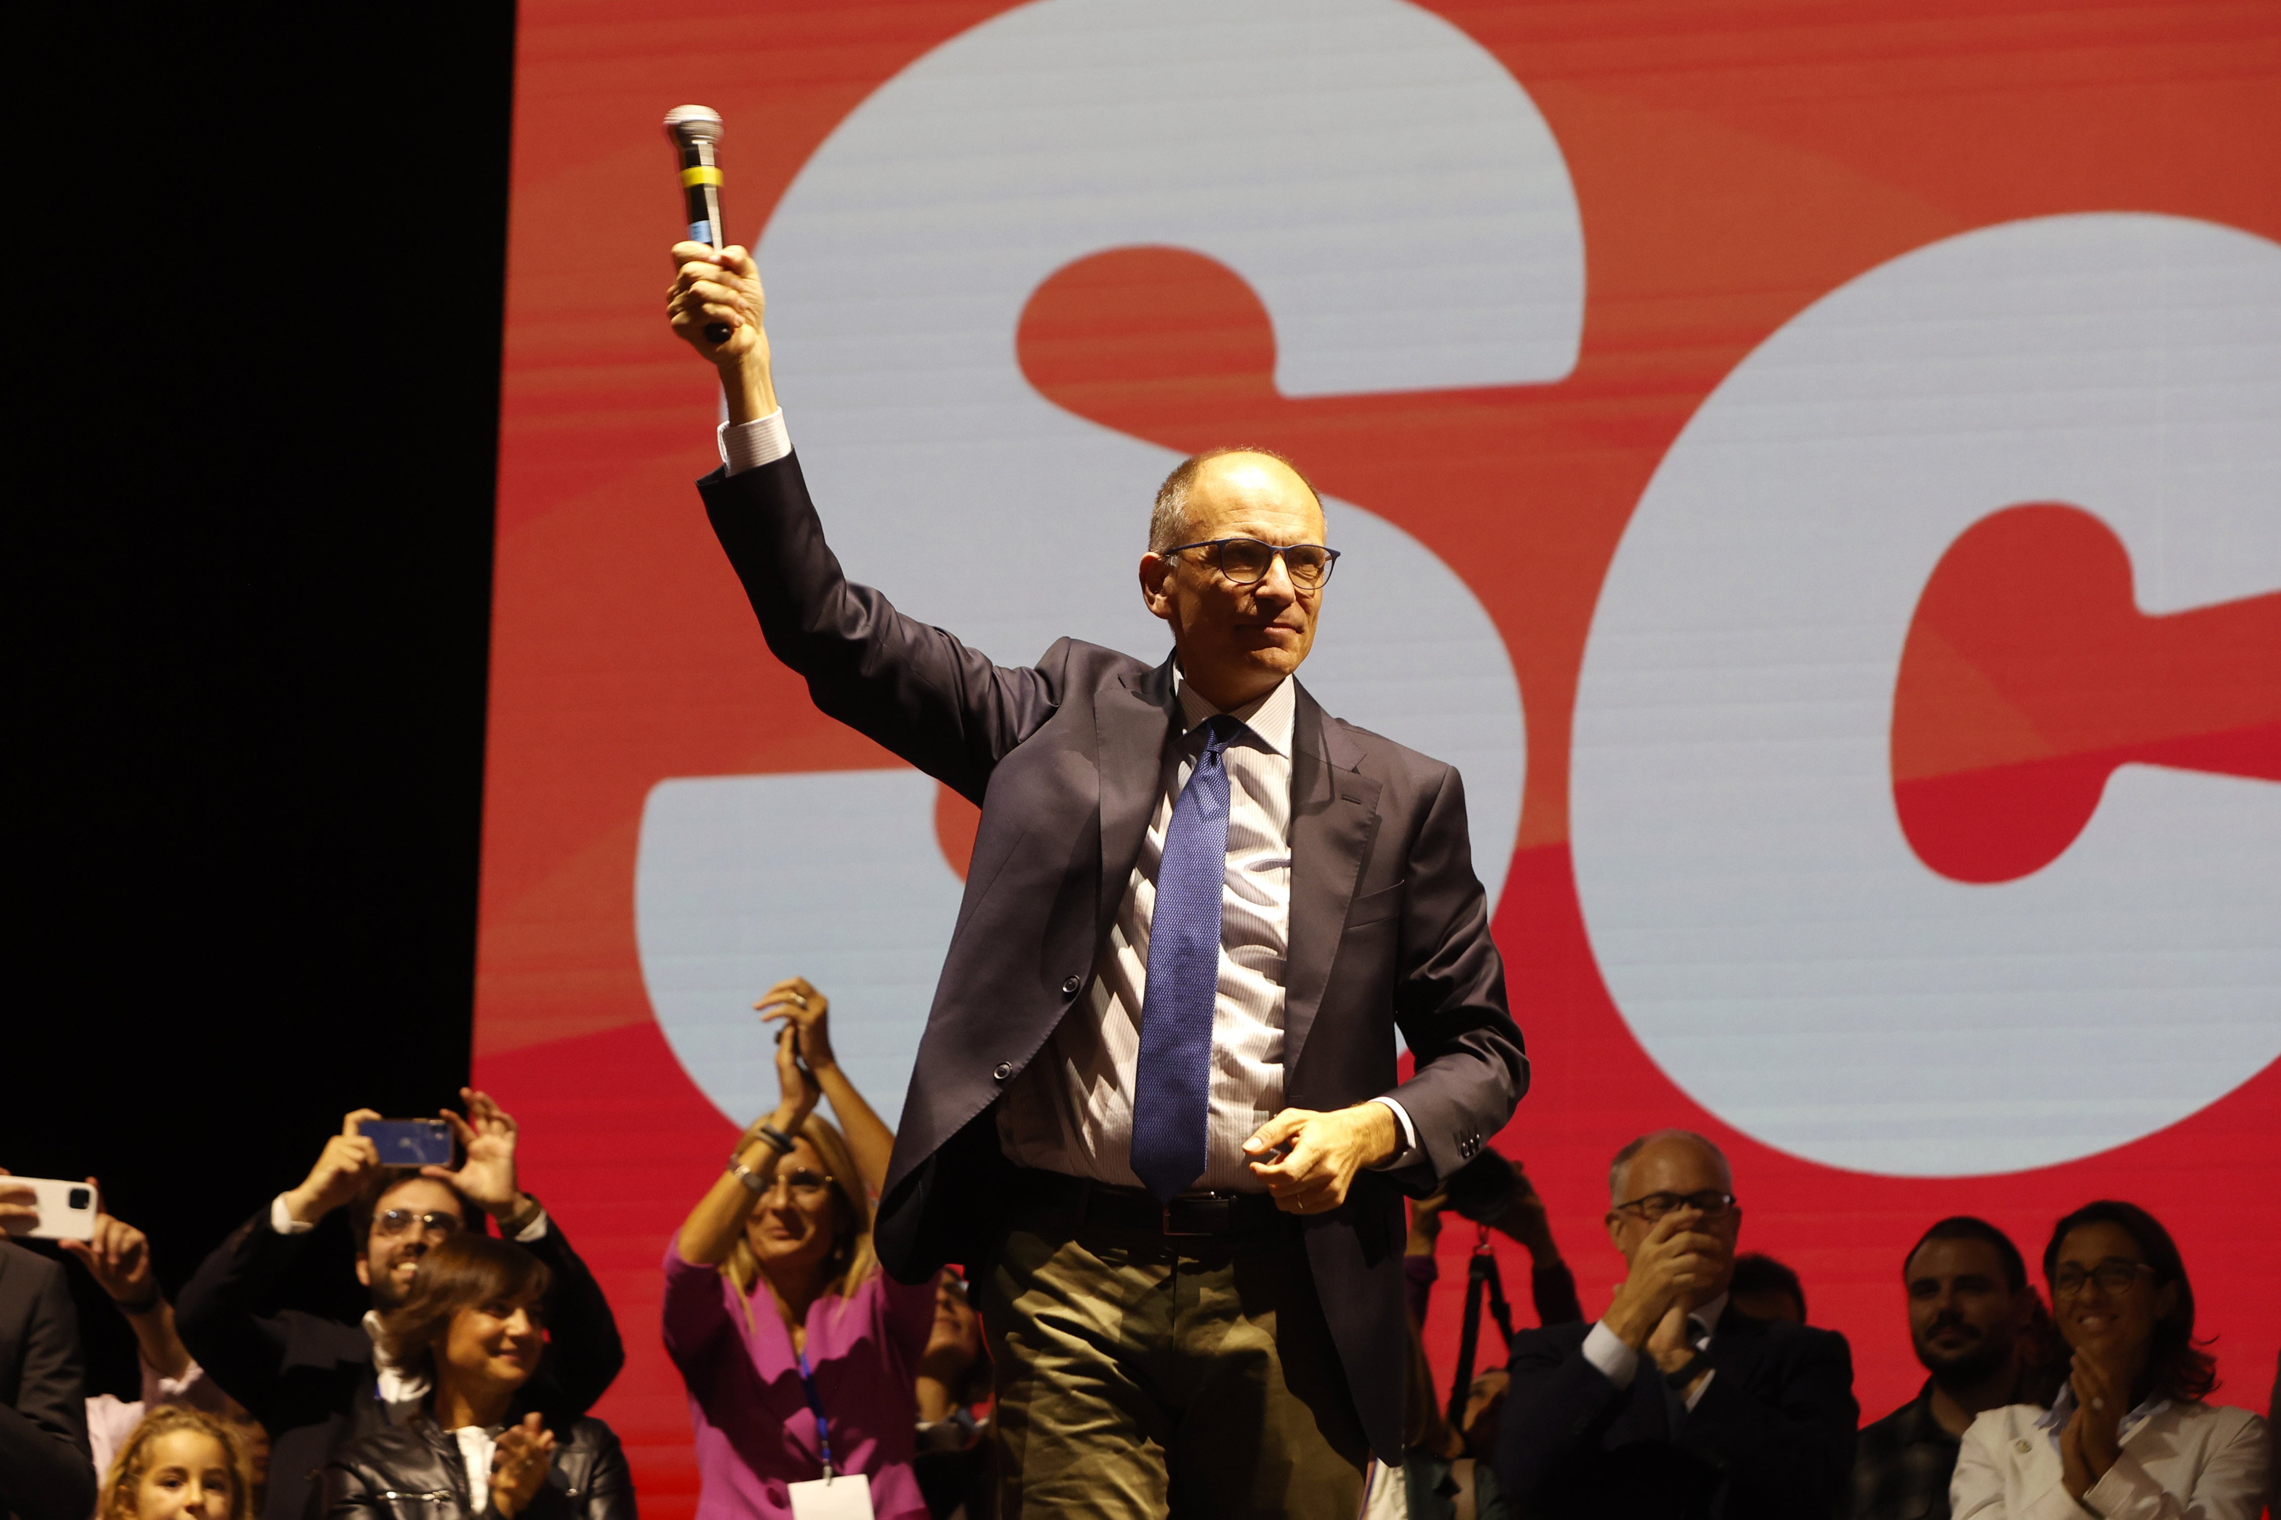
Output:
[[[1854,1520],[1948,1520],[1948,1474],[1984,1408],[2037,1401],[2037,1297],[2019,1247],[1987,1219],[1941,1219],[1911,1247],[1909,1342],[1925,1388],[1854,1447]]]

